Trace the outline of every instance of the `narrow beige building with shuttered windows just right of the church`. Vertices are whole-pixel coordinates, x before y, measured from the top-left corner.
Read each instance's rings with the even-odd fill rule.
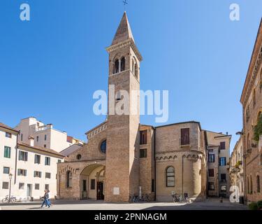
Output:
[[[231,135],[205,131],[208,144],[208,196],[229,197]]]

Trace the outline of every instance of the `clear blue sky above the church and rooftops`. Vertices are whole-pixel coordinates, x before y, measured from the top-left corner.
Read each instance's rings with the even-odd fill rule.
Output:
[[[30,22],[20,20],[21,3],[31,6]],[[239,22],[229,20],[231,3],[240,4]],[[261,8],[261,0],[129,0],[140,87],[169,90],[168,123],[197,120],[235,144]],[[92,94],[107,90],[105,47],[123,11],[122,0],[1,0],[1,122],[35,116],[85,139],[105,119],[94,115]],[[154,116],[141,123],[155,125]]]

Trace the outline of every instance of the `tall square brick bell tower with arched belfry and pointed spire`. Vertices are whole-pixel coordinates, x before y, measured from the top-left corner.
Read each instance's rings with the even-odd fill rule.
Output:
[[[126,12],[110,47],[105,201],[129,202],[139,192],[139,90],[142,56],[136,47]],[[128,92],[129,94],[123,94]],[[137,90],[131,94],[132,90]],[[124,98],[128,99],[121,106]],[[135,102],[131,105],[131,102]],[[116,106],[115,106],[116,105]],[[120,105],[121,114],[114,109]],[[127,106],[126,106],[127,105]],[[126,114],[126,109],[129,113]],[[131,112],[131,109],[135,109]]]

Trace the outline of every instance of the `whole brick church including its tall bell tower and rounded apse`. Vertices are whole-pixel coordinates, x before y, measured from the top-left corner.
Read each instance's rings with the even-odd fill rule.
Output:
[[[140,90],[143,57],[126,13],[106,50],[108,85],[115,85],[116,93]],[[133,197],[143,197],[172,202],[172,194],[177,193],[188,195],[192,201],[205,200],[207,139],[200,123],[153,127],[140,124],[139,113],[108,114],[104,123],[86,135],[88,143],[57,165],[59,199],[131,202]]]

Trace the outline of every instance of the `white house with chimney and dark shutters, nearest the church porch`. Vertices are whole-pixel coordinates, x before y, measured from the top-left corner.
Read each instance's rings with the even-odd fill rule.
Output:
[[[18,144],[17,176],[13,195],[22,198],[43,197],[44,190],[50,190],[51,197],[57,195],[57,163],[64,162],[64,156],[48,148]]]

